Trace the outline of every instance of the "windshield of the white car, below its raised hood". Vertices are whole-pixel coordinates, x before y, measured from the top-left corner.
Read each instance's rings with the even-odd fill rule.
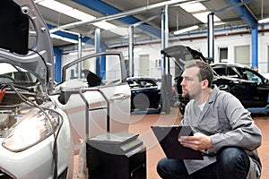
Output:
[[[38,81],[32,73],[13,64],[0,63],[0,68],[0,83],[17,83],[30,86]]]

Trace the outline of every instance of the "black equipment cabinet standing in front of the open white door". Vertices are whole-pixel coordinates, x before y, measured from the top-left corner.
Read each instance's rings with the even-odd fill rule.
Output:
[[[88,139],[89,179],[146,179],[146,148],[137,137],[123,132]]]

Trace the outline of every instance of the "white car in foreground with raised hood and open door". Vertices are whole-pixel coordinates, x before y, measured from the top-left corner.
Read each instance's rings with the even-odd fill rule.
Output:
[[[84,57],[66,65],[64,82],[55,87],[53,46],[35,4],[1,1],[0,8],[0,178],[73,178],[81,141],[128,130],[122,56],[102,57],[108,67],[98,87],[75,77],[89,67]]]

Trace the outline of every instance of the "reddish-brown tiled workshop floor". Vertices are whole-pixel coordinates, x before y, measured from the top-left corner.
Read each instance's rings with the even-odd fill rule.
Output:
[[[155,168],[159,159],[164,157],[161,147],[152,134],[150,126],[158,124],[179,124],[181,117],[182,115],[178,113],[176,107],[172,107],[168,115],[131,115],[129,132],[139,133],[141,140],[143,140],[147,148],[147,179],[160,178]],[[269,116],[253,115],[253,118],[263,132],[263,143],[258,149],[258,152],[263,164],[261,179],[267,179],[269,178]],[[74,156],[74,179],[77,178],[80,178],[78,177],[78,156]]]

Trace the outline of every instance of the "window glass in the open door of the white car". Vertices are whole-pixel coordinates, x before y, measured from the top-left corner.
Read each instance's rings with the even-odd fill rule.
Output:
[[[100,64],[106,65],[100,66]],[[119,55],[98,55],[82,58],[82,61],[65,68],[64,75],[65,81],[78,79],[88,82],[89,86],[94,86],[90,85],[91,82],[96,85],[117,83],[122,80],[120,57]]]

